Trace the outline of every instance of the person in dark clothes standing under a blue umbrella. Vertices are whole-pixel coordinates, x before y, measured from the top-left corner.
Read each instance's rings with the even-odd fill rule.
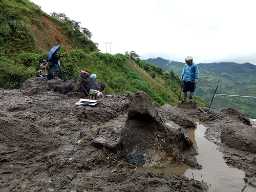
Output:
[[[63,57],[62,54],[58,55],[60,50],[60,45],[53,47],[48,55],[49,62],[54,66],[53,78],[58,78],[58,72],[60,69],[60,58]]]

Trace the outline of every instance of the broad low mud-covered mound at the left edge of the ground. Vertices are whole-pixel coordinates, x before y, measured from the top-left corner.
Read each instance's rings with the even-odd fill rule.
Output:
[[[32,121],[0,117],[2,161],[22,161],[56,148],[51,132]]]

